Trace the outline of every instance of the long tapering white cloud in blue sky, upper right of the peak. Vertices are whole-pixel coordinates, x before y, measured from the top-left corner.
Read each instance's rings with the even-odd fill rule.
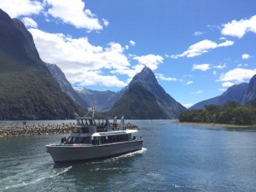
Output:
[[[234,44],[234,42],[229,41],[229,40],[225,41],[224,43],[217,44],[211,40],[205,39],[205,40],[202,40],[201,42],[191,45],[189,47],[189,49],[184,51],[182,54],[171,55],[171,57],[173,59],[177,59],[178,57],[183,57],[183,56],[195,57],[195,56],[202,55],[204,53],[209,52],[210,49],[216,49],[218,47],[227,47],[227,46],[231,46],[233,44]]]

